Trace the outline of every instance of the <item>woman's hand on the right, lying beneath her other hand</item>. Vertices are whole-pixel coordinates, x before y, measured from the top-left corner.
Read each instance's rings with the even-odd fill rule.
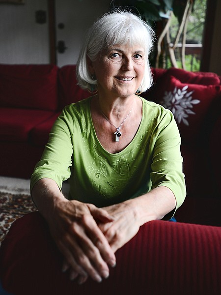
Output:
[[[138,233],[141,224],[137,218],[136,209],[132,204],[133,201],[128,200],[103,208],[114,217],[112,222],[99,223],[99,228],[106,236],[113,252],[121,248]]]

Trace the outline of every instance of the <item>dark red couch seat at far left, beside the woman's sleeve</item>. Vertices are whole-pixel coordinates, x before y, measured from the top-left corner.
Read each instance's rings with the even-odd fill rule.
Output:
[[[0,139],[4,142],[28,141],[31,129],[53,115],[50,111],[0,108]]]

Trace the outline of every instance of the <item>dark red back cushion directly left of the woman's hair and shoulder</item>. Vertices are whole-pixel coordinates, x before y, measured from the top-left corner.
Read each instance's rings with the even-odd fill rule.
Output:
[[[92,94],[81,89],[76,79],[76,65],[64,65],[58,72],[59,109]]]

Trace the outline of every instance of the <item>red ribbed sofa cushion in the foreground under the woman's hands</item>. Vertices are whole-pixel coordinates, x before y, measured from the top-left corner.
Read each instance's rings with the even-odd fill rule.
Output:
[[[33,212],[17,219],[2,242],[0,279],[16,295],[218,295],[220,245],[219,227],[152,221],[116,252],[108,279],[78,285],[61,272],[63,259]]]

